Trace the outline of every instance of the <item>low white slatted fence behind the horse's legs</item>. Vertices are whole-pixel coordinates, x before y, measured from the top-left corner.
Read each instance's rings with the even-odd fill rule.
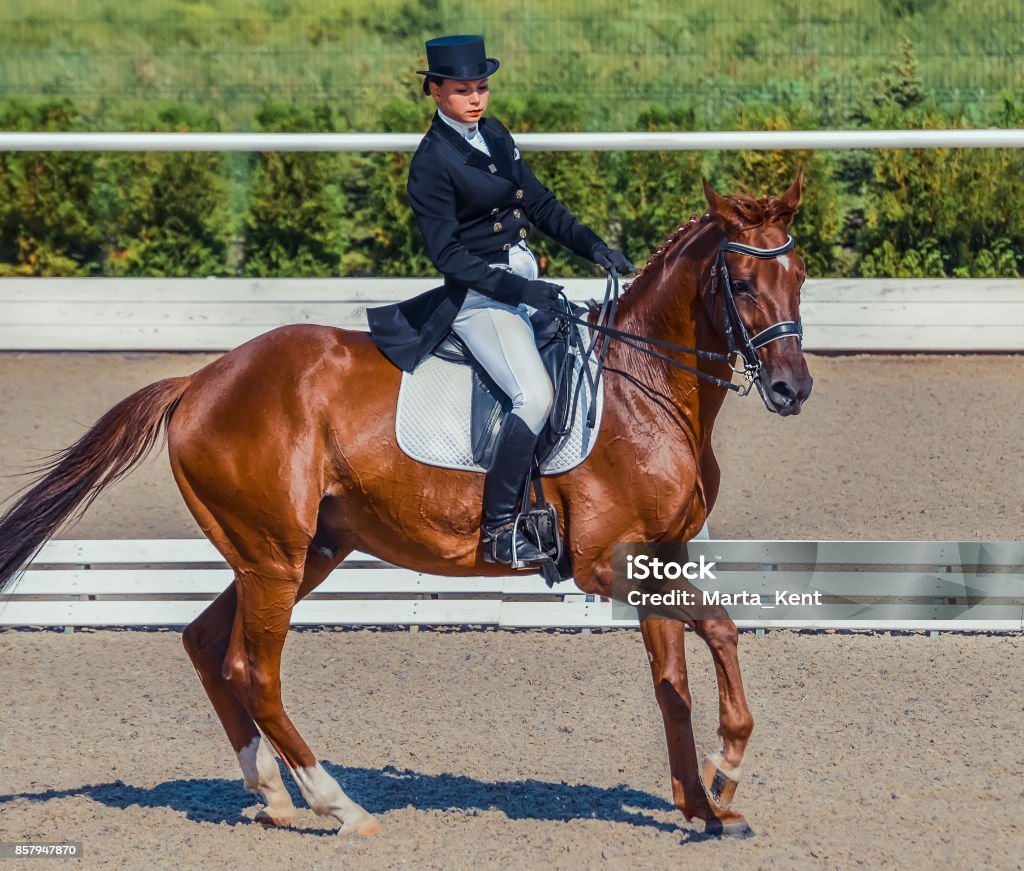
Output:
[[[825,603],[783,618],[770,608],[730,609],[743,628],[1024,630],[1024,542],[703,540],[691,548],[716,560],[714,586],[723,593],[763,593],[770,603],[773,591],[813,586]],[[230,582],[205,539],[50,541],[0,603],[0,626],[180,626]],[[301,602],[292,622],[637,624],[625,606],[571,581],[549,590],[536,575],[425,575],[365,554],[351,555]]]

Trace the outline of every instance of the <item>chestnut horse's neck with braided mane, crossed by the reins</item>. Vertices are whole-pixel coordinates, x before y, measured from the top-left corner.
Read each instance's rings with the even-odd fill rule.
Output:
[[[711,222],[693,227],[650,263],[623,298],[618,328],[688,348],[726,351],[726,341],[712,322],[700,287],[718,251],[719,236],[720,230]],[[725,399],[725,389],[628,346],[620,345],[616,350],[618,365],[642,379],[649,388],[672,397],[702,444],[711,435],[715,417]],[[663,353],[693,364],[692,356]],[[718,378],[729,377],[724,363],[699,360],[697,366]]]

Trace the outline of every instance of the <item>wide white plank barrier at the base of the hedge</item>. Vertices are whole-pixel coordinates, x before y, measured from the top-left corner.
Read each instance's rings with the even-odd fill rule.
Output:
[[[0,351],[224,351],[286,323],[365,330],[368,306],[436,278],[3,278]],[[564,281],[578,302],[604,281]],[[1024,351],[1024,280],[807,281],[804,347],[819,352]]]

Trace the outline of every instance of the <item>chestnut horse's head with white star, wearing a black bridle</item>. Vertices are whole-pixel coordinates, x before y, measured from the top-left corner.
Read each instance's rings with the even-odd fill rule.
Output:
[[[801,170],[781,197],[722,197],[703,182],[723,237],[706,299],[714,322],[754,374],[769,411],[799,415],[812,379],[801,348],[804,261],[787,232],[800,205]]]

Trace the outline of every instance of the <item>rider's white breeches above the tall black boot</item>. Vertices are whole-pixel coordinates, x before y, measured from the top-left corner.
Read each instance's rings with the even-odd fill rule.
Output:
[[[493,265],[527,280],[538,274],[537,260],[524,243],[509,251],[508,266]],[[554,389],[534,340],[531,311],[525,304],[506,305],[469,291],[452,329],[512,400],[512,413],[539,435],[551,412]]]

